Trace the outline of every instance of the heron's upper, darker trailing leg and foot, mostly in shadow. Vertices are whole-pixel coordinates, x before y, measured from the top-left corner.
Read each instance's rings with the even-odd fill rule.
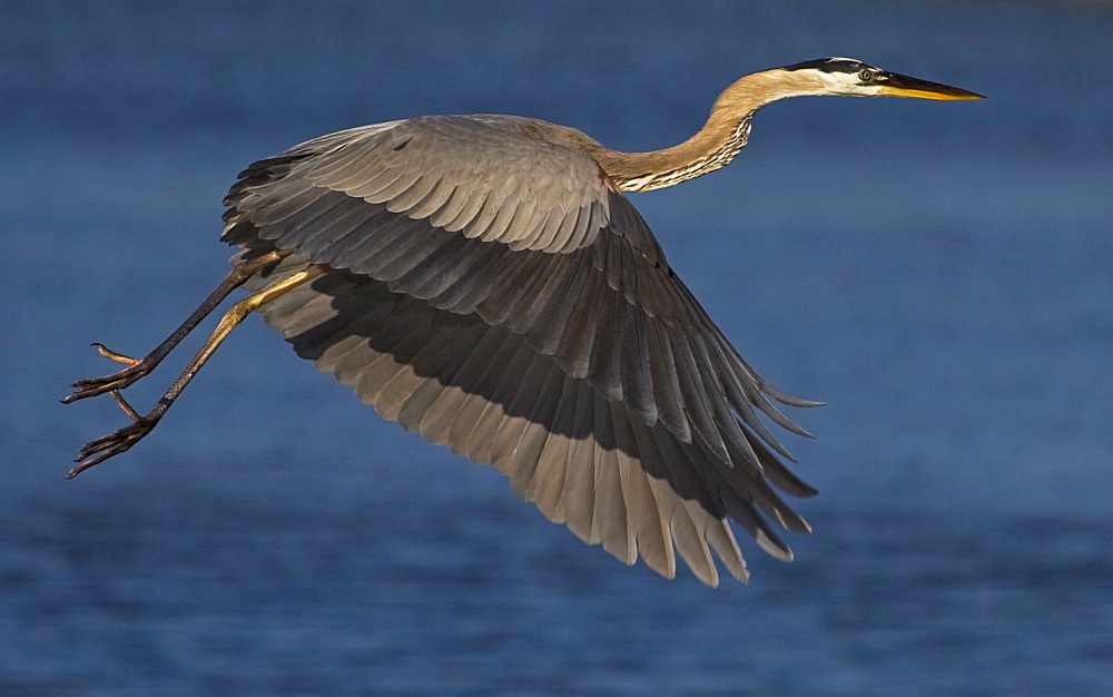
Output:
[[[116,353],[104,344],[92,344],[97,347],[100,355],[119,363],[124,363],[128,367],[112,373],[111,375],[105,375],[104,377],[93,377],[91,380],[79,380],[75,382],[72,386],[76,387],[76,391],[73,394],[62,397],[62,403],[69,404],[70,402],[83,400],[87,396],[96,396],[98,394],[104,394],[105,392],[122,390],[144,375],[150,373],[155,370],[155,366],[157,366],[162,359],[165,359],[166,355],[170,353],[170,351],[177,346],[183,338],[186,337],[186,334],[191,332],[194,327],[201,322],[201,320],[208,316],[210,312],[223,303],[224,298],[228,297],[229,293],[244,285],[244,283],[256,273],[282,261],[284,256],[289,256],[290,254],[292,252],[288,249],[269,252],[263,256],[237,264],[228,276],[220,282],[220,285],[218,285],[216,289],[213,291],[207,298],[205,298],[205,302],[201,303],[200,306],[195,310],[185,322],[181,323],[181,326],[167,336],[166,341],[147,354],[147,357],[145,359],[130,359],[121,353]]]

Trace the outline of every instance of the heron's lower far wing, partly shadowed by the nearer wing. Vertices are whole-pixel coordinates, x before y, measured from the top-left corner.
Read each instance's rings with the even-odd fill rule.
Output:
[[[307,263],[289,257],[253,287]],[[722,468],[663,424],[632,418],[622,402],[608,401],[506,327],[439,311],[345,272],[331,272],[263,310],[299,355],[354,386],[383,416],[494,463],[546,517],[627,563],[640,551],[671,577],[676,544],[693,572],[715,585],[710,547],[745,579],[728,514],[774,553],[787,552],[775,537],[765,542],[751,500],[762,510],[784,508],[782,523],[795,513],[767,502],[776,494],[760,477]]]

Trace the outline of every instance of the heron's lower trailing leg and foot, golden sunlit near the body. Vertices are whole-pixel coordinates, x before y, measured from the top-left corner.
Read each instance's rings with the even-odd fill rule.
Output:
[[[283,295],[284,293],[302,285],[303,283],[316,278],[317,276],[324,274],[327,269],[328,267],[325,266],[324,264],[317,266],[311,266],[305,271],[301,271],[289,276],[288,278],[282,281],[280,283],[277,283],[264,291],[259,291],[255,295],[246,297],[236,303],[235,305],[233,305],[232,308],[228,310],[227,313],[225,313],[224,317],[220,318],[220,323],[217,325],[211,336],[208,337],[208,341],[205,342],[205,345],[201,346],[201,350],[197,352],[197,355],[194,356],[194,360],[189,362],[189,365],[186,366],[186,370],[184,370],[181,372],[181,375],[179,375],[178,379],[174,381],[174,384],[170,385],[170,389],[166,391],[166,394],[162,395],[162,399],[158,401],[158,404],[156,404],[155,408],[150,410],[150,412],[148,412],[146,416],[139,416],[137,412],[134,409],[131,409],[131,406],[119,394],[118,389],[108,387],[107,391],[112,393],[112,396],[116,397],[117,404],[119,404],[120,408],[125,412],[127,412],[128,415],[132,418],[134,422],[130,425],[124,426],[122,429],[120,429],[115,433],[110,433],[104,438],[98,438],[97,440],[89,441],[88,443],[86,443],[85,446],[81,448],[81,450],[78,452],[76,460],[76,462],[78,462],[78,465],[72,470],[70,470],[67,479],[72,479],[78,474],[80,474],[81,472],[83,472],[85,470],[91,468],[92,465],[99,464],[114,455],[118,455],[121,452],[127,451],[137,442],[139,442],[140,439],[150,433],[150,431],[158,423],[158,420],[162,418],[162,414],[166,413],[166,410],[168,410],[170,408],[170,404],[174,403],[174,400],[176,400],[178,395],[181,393],[181,391],[186,389],[186,385],[189,384],[189,381],[193,380],[194,375],[197,374],[197,371],[199,371],[201,366],[205,365],[205,362],[209,360],[209,356],[213,355],[213,353],[217,350],[217,347],[225,340],[225,337],[228,336],[232,330],[234,330],[237,324],[244,321],[244,317],[246,317],[248,314],[250,314],[254,310],[256,310],[264,303],[268,303],[274,298],[278,297],[279,295]],[[194,324],[196,325],[196,323]],[[161,346],[159,346],[159,348],[161,348]],[[161,356],[159,356],[159,360],[161,360]]]

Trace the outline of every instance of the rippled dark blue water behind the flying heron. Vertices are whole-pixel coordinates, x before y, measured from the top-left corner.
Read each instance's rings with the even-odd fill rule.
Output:
[[[0,693],[1113,685],[1113,8],[748,4],[4,3]],[[435,112],[663,147],[828,55],[989,99],[789,100],[636,202],[750,362],[829,402],[790,443],[820,490],[794,563],[626,568],[258,321],[61,479],[124,423],[56,401],[111,367],[88,343],[141,354],[223,277],[253,159]]]

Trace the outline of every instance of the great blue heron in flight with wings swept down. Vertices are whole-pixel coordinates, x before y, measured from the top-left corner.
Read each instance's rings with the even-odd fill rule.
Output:
[[[228,277],[142,360],[73,384],[132,419],[87,443],[70,477],[144,438],[247,314],[386,419],[511,479],[580,539],[657,572],[676,551],[718,583],[709,546],[748,577],[733,520],[791,559],[767,518],[810,530],[774,490],[816,490],[757,412],[807,435],[666,262],[624,192],[722,167],[765,105],[807,95],[977,99],[826,58],[733,82],[687,141],[619,153],[514,116],[432,116],[322,136],[255,163],[225,205]],[[236,287],[236,303],[166,395],[139,415],[119,391],[149,373]]]

